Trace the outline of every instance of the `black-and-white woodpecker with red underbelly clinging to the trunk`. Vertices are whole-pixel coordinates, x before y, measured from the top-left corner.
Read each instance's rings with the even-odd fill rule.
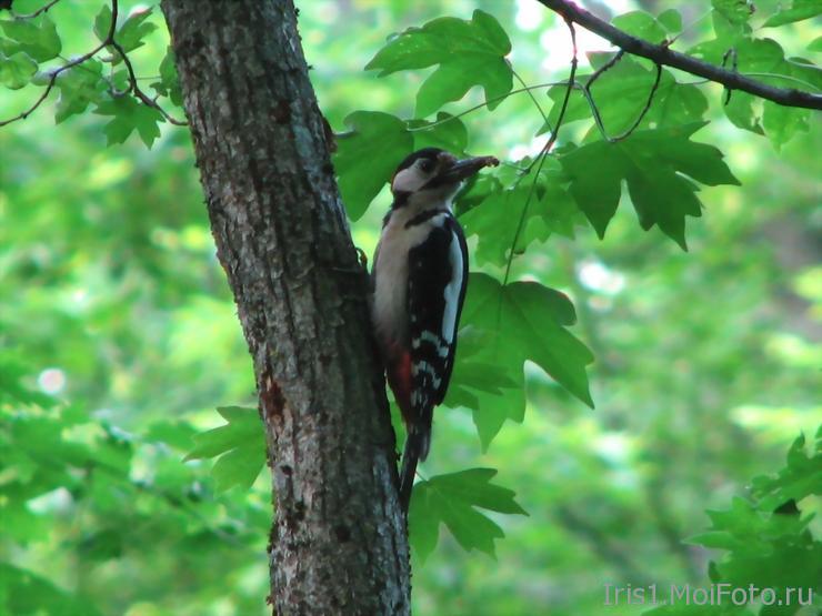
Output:
[[[431,445],[433,407],[442,403],[457,351],[468,283],[468,250],[451,200],[493,156],[457,160],[438,148],[407,156],[391,179],[393,203],[374,254],[372,317],[388,383],[408,437],[400,505],[408,512],[417,463]]]

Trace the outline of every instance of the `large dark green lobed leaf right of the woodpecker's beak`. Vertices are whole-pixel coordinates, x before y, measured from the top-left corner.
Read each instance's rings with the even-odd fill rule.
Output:
[[[691,180],[739,184],[716,148],[689,140],[703,125],[636,131],[624,141],[599,141],[561,156],[571,194],[600,238],[616,212],[624,181],[642,228],[656,224],[688,250],[685,216],[701,215]]]

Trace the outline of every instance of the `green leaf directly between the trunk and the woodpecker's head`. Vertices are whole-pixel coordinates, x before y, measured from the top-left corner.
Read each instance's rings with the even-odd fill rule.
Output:
[[[414,138],[402,120],[378,111],[355,111],[345,123],[351,132],[337,138],[334,169],[345,210],[358,220],[411,153]]]

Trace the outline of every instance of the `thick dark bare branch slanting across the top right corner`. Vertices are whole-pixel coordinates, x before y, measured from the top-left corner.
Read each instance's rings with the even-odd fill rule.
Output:
[[[564,20],[579,23],[585,30],[599,34],[620,49],[634,55],[648,58],[658,64],[703,77],[721,83],[729,90],[741,90],[784,107],[822,110],[822,94],[814,94],[793,88],[774,88],[773,85],[749,79],[715,64],[703,62],[691,55],[673,51],[664,43],[655,44],[638,39],[567,0],[537,1],[557,12]]]

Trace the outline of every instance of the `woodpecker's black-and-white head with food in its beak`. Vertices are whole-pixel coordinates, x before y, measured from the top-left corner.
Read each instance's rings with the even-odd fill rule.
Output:
[[[494,156],[458,160],[439,148],[423,148],[409,154],[399,164],[391,179],[394,204],[450,204],[464,180],[483,166],[497,166]]]

